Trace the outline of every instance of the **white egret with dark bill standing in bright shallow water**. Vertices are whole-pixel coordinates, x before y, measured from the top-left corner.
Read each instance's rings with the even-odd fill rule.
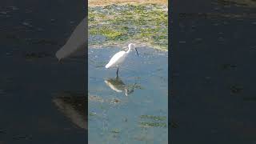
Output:
[[[128,45],[129,49],[127,51],[119,51],[117,54],[114,54],[114,56],[110,59],[110,62],[106,64],[106,69],[110,67],[117,66],[119,68],[120,64],[126,59],[126,56],[130,53],[131,49],[135,49],[137,54],[138,51],[133,43],[130,43]],[[118,70],[117,70],[117,76],[118,76]]]

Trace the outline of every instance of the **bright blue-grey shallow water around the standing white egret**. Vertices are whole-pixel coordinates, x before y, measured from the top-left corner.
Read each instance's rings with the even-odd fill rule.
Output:
[[[116,78],[105,65],[120,50],[88,50],[89,142],[167,143],[168,54],[139,47]]]

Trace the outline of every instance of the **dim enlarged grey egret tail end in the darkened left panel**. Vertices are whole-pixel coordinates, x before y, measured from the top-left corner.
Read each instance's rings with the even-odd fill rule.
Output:
[[[86,40],[86,18],[84,18],[75,28],[66,44],[56,52],[56,57],[60,60],[78,51],[85,53]]]

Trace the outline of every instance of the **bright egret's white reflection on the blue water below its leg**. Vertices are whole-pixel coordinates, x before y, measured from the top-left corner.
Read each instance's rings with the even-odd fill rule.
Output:
[[[126,85],[124,82],[122,82],[122,79],[119,77],[107,78],[104,82],[106,83],[107,86],[110,86],[110,89],[118,93],[125,92],[126,96],[128,96],[129,94],[132,94],[136,86],[136,83],[134,83],[133,86]]]

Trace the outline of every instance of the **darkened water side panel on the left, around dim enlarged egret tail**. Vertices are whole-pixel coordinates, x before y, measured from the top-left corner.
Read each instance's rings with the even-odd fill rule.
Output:
[[[2,2],[0,143],[86,142],[86,25],[72,37],[85,22],[84,4]],[[71,92],[58,94],[64,90]]]

